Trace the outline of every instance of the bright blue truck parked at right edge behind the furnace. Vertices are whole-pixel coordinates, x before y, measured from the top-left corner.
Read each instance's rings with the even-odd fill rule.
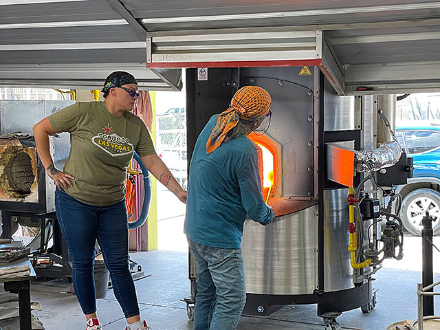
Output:
[[[426,210],[434,218],[434,235],[440,233],[440,126],[397,127],[396,137],[414,161],[408,184],[397,186],[403,197],[401,219],[408,232],[421,234]]]

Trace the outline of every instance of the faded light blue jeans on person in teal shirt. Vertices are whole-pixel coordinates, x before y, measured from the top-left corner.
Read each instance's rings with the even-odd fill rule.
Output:
[[[246,301],[241,249],[188,245],[197,267],[193,330],[235,329]]]

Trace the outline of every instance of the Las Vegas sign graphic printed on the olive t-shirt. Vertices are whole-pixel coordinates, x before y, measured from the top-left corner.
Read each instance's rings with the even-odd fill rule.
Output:
[[[116,133],[111,133],[113,132],[113,129],[111,129],[110,123],[102,129],[104,130],[104,133],[98,133],[98,135],[91,138],[93,144],[111,155],[111,157],[133,153],[133,144],[130,143],[128,138],[120,137]]]

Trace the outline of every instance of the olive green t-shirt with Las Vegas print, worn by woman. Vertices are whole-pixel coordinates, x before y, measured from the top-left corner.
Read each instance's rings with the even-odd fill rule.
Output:
[[[50,115],[49,122],[56,133],[70,133],[63,171],[75,179],[65,192],[89,205],[122,201],[133,151],[140,157],[155,153],[144,122],[129,112],[117,117],[104,102],[77,102]]]

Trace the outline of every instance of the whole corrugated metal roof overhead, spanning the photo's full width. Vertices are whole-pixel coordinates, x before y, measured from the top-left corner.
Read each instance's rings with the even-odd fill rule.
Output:
[[[129,63],[141,69],[147,62],[146,32],[153,38],[153,52],[160,46],[178,58],[191,47],[196,61],[210,56],[211,45],[211,54],[233,57],[236,45],[221,49],[221,43],[228,45],[228,35],[270,31],[275,37],[290,31],[294,39],[298,31],[315,30],[322,30],[346,93],[359,84],[395,92],[434,90],[440,83],[440,1],[429,0],[0,0],[0,79],[8,65],[119,63],[124,69]],[[200,37],[154,43],[159,36],[218,33],[225,35],[223,41]],[[261,45],[274,46],[275,39],[266,38]],[[281,46],[283,50],[287,44]]]

